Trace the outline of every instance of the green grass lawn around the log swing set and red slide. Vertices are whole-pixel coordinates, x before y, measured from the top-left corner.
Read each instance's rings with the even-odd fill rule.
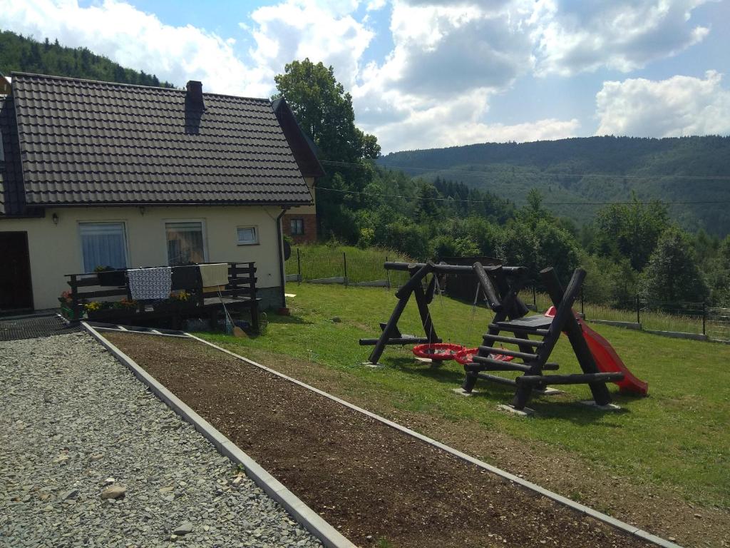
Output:
[[[629,369],[648,381],[649,397],[618,395],[611,384],[623,411],[601,413],[578,403],[591,399],[587,386],[566,386],[561,387],[564,395],[534,399],[530,406],[537,416],[524,419],[497,409],[497,403],[510,403],[509,387],[480,381],[477,389],[488,389],[485,395],[454,395],[451,390],[464,377],[456,362],[432,368],[415,361],[410,348],[392,346],[380,360],[385,368],[363,367],[372,347],[358,346],[358,339],[378,335],[378,322],[386,321],[396,304],[393,290],[290,283],[287,291],[296,294],[288,300],[292,315],[269,314],[264,335],[201,335],[242,354],[260,349],[339,370],[353,384],[387,395],[395,408],[454,422],[467,419],[485,430],[566,449],[616,475],[667,487],[695,503],[730,506],[730,346],[594,324]],[[469,346],[480,343],[492,316],[485,308],[474,310],[447,297],[436,297],[431,314],[441,338]],[[342,321],[331,321],[334,316]],[[399,327],[420,335],[414,302]],[[580,372],[565,337],[550,361],[560,363],[561,373]],[[266,365],[276,368],[275,362]]]

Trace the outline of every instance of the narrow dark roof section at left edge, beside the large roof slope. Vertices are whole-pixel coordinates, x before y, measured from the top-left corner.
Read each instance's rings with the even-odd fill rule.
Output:
[[[26,194],[23,191],[12,96],[0,95],[0,140],[0,215],[22,215],[26,208]]]

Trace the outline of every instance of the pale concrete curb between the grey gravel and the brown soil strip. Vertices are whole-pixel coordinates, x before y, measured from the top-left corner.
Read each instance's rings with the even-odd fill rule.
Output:
[[[327,548],[357,548],[355,544],[348,541],[345,536],[342,536],[342,533],[339,533],[337,529],[323,520],[319,514],[304,504],[303,501],[275,479],[274,476],[266,472],[261,465],[256,463],[255,460],[239,449],[236,444],[226,438],[225,435],[216,430],[209,422],[203,419],[199,414],[193,411],[193,409],[183,403],[182,400],[155,380],[155,378],[147,373],[147,371],[137,365],[137,362],[134,362],[134,360],[124,354],[123,351],[102,337],[98,331],[85,321],[82,321],[81,325],[86,332],[101,343],[101,346],[104,346],[104,348],[110,351],[110,353],[118,359],[120,363],[131,370],[139,381],[146,384],[153,394],[164,401],[164,403],[166,403],[169,408],[172,408],[175,413],[182,416],[186,422],[193,425],[199,433],[204,435],[204,437],[207,438],[213,446],[215,446],[215,449],[218,449],[218,452],[228,457],[234,463],[242,465],[246,475],[249,476],[250,479],[253,479],[258,487],[261,487],[261,489],[273,498],[274,501],[280,503],[280,505],[283,506],[283,508],[288,511],[288,513],[291,514],[297,522],[310,531],[312,535],[320,539]],[[190,335],[190,337],[200,340],[193,335]]]

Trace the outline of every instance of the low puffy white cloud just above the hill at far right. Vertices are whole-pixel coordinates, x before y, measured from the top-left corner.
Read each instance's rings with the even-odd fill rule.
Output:
[[[721,75],[604,82],[596,95],[598,135],[679,137],[730,134],[730,90]]]

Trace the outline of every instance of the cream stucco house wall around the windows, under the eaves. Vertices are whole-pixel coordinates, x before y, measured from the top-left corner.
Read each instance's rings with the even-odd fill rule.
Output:
[[[255,261],[256,286],[266,288],[281,286],[280,213],[281,208],[247,206],[48,208],[45,218],[0,219],[0,232],[28,232],[34,308],[57,308],[57,297],[69,289],[64,274],[83,272],[80,222],[124,222],[128,267],[152,267],[167,264],[165,221],[203,221],[207,260]],[[252,225],[258,229],[258,245],[239,246],[236,228]]]

